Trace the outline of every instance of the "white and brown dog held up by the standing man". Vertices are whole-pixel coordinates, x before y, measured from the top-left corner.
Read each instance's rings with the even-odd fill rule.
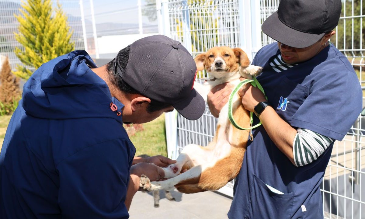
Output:
[[[224,82],[237,85],[241,76],[251,78],[262,71],[261,67],[249,65],[246,53],[240,48],[213,47],[197,55],[195,62],[197,70],[205,69],[211,78],[204,84],[194,85],[205,100],[215,85]],[[250,126],[250,114],[243,108],[238,94],[233,100],[233,116],[241,126]],[[230,123],[226,104],[220,111],[214,139],[207,147],[185,146],[177,162],[163,168],[168,180],[150,182],[148,177],[142,175],[140,187],[147,191],[177,189],[184,193],[220,189],[233,180],[241,169],[248,136],[248,130],[238,130]]]

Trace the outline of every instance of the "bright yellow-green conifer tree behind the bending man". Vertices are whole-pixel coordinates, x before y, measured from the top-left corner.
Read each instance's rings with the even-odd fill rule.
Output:
[[[14,15],[19,21],[19,34],[14,34],[24,47],[24,50],[15,48],[15,54],[24,66],[17,65],[14,74],[28,79],[33,72],[26,66],[37,69],[43,63],[69,53],[74,49],[74,42],[70,42],[73,31],[69,31],[59,3],[54,16],[51,0],[22,1],[22,8],[19,15]]]

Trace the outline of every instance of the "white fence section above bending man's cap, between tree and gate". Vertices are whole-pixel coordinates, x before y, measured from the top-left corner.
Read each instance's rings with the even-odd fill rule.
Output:
[[[99,46],[103,45],[98,45],[98,39],[101,37],[132,34],[139,34],[142,37],[142,34],[158,33],[155,0],[145,0],[143,4],[141,0],[130,1],[127,6],[126,2],[119,0],[106,3],[80,0],[80,5],[82,25],[85,30],[85,47],[95,58],[103,58],[100,57],[99,51]],[[138,39],[138,36],[136,38]],[[118,42],[115,43],[118,46]]]

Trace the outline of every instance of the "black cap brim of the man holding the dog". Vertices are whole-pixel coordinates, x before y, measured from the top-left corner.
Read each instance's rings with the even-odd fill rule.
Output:
[[[309,34],[286,26],[280,21],[277,11],[264,21],[261,30],[274,40],[295,48],[311,46],[324,36],[324,33]]]

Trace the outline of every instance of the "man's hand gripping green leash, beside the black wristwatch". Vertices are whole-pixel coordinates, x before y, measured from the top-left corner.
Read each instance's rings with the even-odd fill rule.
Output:
[[[266,101],[265,95],[257,87],[253,87],[251,84],[245,84],[238,94],[242,96],[242,105],[246,110],[254,112],[255,106]]]

